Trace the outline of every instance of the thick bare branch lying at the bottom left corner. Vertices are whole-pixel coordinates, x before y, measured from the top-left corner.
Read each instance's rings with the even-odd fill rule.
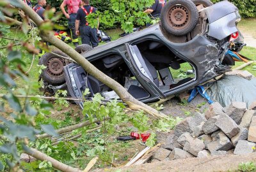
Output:
[[[52,167],[59,169],[60,171],[65,172],[83,172],[81,169],[73,168],[71,166],[68,166],[66,164],[63,164],[60,161],[57,161],[56,159],[53,159],[52,157],[49,157],[48,155],[36,150],[35,148],[27,148],[25,150],[25,153],[28,155],[31,155],[32,157],[35,157],[36,159],[40,161],[49,161],[52,163]]]

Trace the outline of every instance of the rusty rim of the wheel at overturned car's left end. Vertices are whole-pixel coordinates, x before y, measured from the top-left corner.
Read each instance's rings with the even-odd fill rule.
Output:
[[[63,66],[65,66],[65,62],[54,57],[47,62],[47,73],[52,76],[61,76],[63,75]]]

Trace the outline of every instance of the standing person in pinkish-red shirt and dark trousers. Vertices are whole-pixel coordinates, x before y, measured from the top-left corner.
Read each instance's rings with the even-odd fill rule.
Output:
[[[68,29],[70,29],[70,33],[72,36],[72,42],[74,43],[75,47],[79,45],[78,43],[78,37],[76,35],[76,28],[75,28],[75,22],[76,22],[76,13],[79,9],[79,6],[82,5],[81,0],[63,0],[63,3],[61,3],[60,8],[65,17],[68,19]],[[65,10],[65,6],[68,8],[68,13]]]

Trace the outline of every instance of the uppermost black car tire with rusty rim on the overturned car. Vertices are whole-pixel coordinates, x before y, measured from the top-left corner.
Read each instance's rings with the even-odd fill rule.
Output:
[[[198,10],[191,0],[172,0],[161,11],[163,28],[175,36],[191,32],[198,22]]]

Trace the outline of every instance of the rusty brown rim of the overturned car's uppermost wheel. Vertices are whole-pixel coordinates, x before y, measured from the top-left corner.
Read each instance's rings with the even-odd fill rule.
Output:
[[[190,14],[186,7],[174,5],[168,11],[168,25],[173,29],[184,29],[190,20]]]

